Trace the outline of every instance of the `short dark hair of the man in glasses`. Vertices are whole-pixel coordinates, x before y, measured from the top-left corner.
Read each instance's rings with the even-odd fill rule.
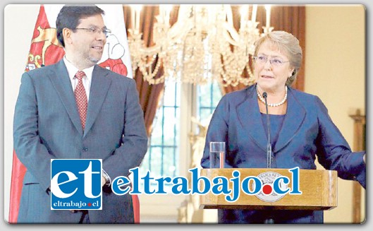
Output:
[[[61,43],[62,47],[65,47],[65,42],[63,41],[62,35],[63,28],[69,28],[71,30],[74,30],[79,25],[81,18],[96,16],[97,14],[104,15],[105,12],[101,8],[94,5],[63,6],[61,8],[61,11],[59,11],[59,16],[57,16],[56,19],[57,39]]]

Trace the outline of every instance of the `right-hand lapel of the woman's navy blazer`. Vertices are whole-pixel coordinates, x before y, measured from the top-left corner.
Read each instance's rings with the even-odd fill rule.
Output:
[[[297,134],[298,129],[305,120],[305,109],[294,96],[291,88],[288,88],[288,109],[283,125],[281,126],[279,139],[274,146],[274,152],[278,152],[286,146]]]

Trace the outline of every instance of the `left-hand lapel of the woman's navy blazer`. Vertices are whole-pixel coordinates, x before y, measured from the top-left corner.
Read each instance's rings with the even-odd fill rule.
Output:
[[[237,106],[237,114],[240,124],[243,126],[242,135],[248,134],[265,153],[267,151],[267,137],[259,112],[255,85],[247,89],[245,100]]]

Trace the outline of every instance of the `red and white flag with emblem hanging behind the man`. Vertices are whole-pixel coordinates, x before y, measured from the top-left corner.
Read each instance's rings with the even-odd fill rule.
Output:
[[[104,23],[111,30],[111,34],[106,38],[104,54],[99,61],[99,66],[133,78],[123,6],[105,4],[97,4],[97,6],[105,11]],[[56,18],[62,7],[63,5],[56,4],[40,6],[25,71],[55,64],[63,58],[65,51],[59,45],[56,37]],[[9,223],[17,223],[25,172],[26,167],[18,160],[16,153],[13,151]],[[134,208],[138,207],[137,196],[133,200],[133,206]],[[140,219],[139,214],[138,211],[135,212],[135,223]]]

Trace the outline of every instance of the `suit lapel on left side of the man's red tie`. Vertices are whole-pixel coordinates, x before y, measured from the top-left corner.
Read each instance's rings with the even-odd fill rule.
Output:
[[[49,75],[49,79],[61,98],[63,106],[66,108],[68,116],[71,118],[71,122],[73,122],[75,128],[82,135],[82,124],[78,114],[78,107],[76,106],[73,88],[71,87],[71,81],[70,78],[68,78],[68,71],[63,60],[56,64],[56,71],[53,75]]]

